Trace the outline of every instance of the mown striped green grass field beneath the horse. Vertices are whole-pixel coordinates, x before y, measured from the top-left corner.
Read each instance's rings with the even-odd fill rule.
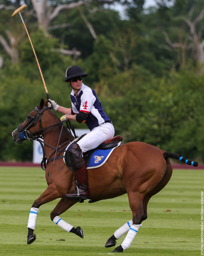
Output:
[[[151,198],[148,218],[123,253],[105,248],[114,231],[132,218],[127,195],[93,204],[77,203],[61,217],[81,226],[84,239],[67,233],[50,220],[59,200],[39,208],[27,245],[27,221],[32,203],[46,188],[44,171],[32,167],[0,167],[0,255],[201,255],[201,191],[204,170],[174,170],[168,185]],[[117,240],[120,245],[125,236]],[[64,241],[65,240],[65,241]]]

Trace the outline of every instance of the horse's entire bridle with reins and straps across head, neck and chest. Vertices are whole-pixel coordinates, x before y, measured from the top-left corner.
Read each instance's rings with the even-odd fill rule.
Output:
[[[32,117],[30,118],[30,120],[28,120],[28,122],[25,124],[24,127],[22,127],[22,123],[19,124],[18,127],[17,127],[17,130],[19,131],[19,135],[20,135],[20,138],[21,138],[22,140],[29,140],[29,141],[36,140],[36,141],[38,141],[38,142],[40,143],[40,145],[41,145],[41,147],[42,147],[42,152],[43,152],[43,158],[42,158],[42,161],[41,161],[41,168],[45,171],[45,170],[46,170],[46,165],[47,165],[47,163],[48,163],[49,161],[52,161],[52,160],[55,161],[55,159],[59,159],[59,158],[63,158],[63,157],[64,157],[64,156],[60,156],[60,154],[61,154],[63,151],[65,151],[65,149],[66,149],[66,147],[68,146],[68,144],[71,143],[71,141],[73,141],[74,138],[77,138],[77,136],[76,136],[76,134],[75,134],[75,130],[74,130],[74,126],[73,126],[72,122],[69,121],[69,120],[67,120],[67,121],[66,121],[66,124],[67,124],[67,127],[68,127],[67,132],[72,136],[72,133],[71,133],[71,131],[72,131],[73,134],[74,134],[74,137],[72,136],[72,137],[73,137],[72,139],[70,139],[70,140],[64,142],[64,143],[63,143],[62,145],[60,145],[60,146],[57,146],[57,148],[55,148],[55,147],[53,147],[53,146],[51,146],[51,145],[45,143],[45,142],[43,141],[43,135],[44,135],[45,133],[48,133],[49,131],[51,131],[52,129],[54,129],[54,128],[55,128],[56,126],[58,126],[58,125],[62,125],[62,129],[63,129],[63,126],[64,126],[65,122],[55,123],[55,124],[50,125],[50,126],[48,126],[48,127],[42,128],[42,127],[41,127],[41,115],[42,115],[42,113],[43,113],[45,110],[47,110],[47,109],[49,109],[49,108],[46,107],[46,106],[43,106],[43,108],[42,108],[41,110],[39,110],[37,107],[38,107],[38,106],[35,107],[35,110],[37,111],[37,114],[36,114],[35,116],[32,116]],[[36,122],[37,122],[38,120],[39,120],[39,130],[38,130],[38,131],[35,131],[35,132],[33,132],[33,133],[30,133],[30,132],[29,132],[29,129],[30,129],[31,127],[33,127],[33,126],[36,124]],[[62,130],[61,130],[61,133],[62,133]],[[37,135],[35,135],[35,134],[37,134]],[[61,136],[61,134],[60,134],[60,136]],[[59,138],[59,141],[60,141],[60,138]],[[58,143],[59,143],[59,141],[58,141]],[[50,148],[54,149],[54,151],[53,151],[52,154],[48,157],[48,159],[46,159],[46,156],[45,156],[44,145],[49,146]],[[62,147],[62,146],[63,146],[63,147]],[[60,148],[61,148],[61,149],[60,149]],[[60,152],[59,152],[58,155],[56,156],[57,151],[60,151]],[[54,158],[50,158],[54,153],[55,153],[55,157],[54,157]],[[43,166],[44,166],[44,167],[43,167]]]

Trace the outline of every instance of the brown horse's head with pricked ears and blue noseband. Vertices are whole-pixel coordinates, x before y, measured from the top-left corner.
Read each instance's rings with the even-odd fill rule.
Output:
[[[44,110],[48,109],[47,100],[41,99],[38,106],[35,107],[26,117],[25,121],[12,132],[13,141],[21,144],[24,140],[30,138],[30,133],[41,129],[41,115]],[[37,135],[37,133],[35,134]]]

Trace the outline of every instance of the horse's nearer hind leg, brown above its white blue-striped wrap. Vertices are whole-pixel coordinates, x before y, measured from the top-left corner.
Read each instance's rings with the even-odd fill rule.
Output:
[[[132,225],[120,246],[115,248],[113,252],[123,252],[130,247],[134,237],[136,236],[141,222],[145,219],[145,214],[143,210],[143,195],[135,192],[128,193],[129,205],[132,211]]]

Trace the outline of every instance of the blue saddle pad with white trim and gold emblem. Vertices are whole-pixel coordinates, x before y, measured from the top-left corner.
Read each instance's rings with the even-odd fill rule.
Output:
[[[90,157],[89,164],[87,166],[87,169],[93,169],[98,168],[101,165],[103,165],[109,158],[110,154],[113,152],[113,150],[117,147],[119,147],[121,142],[118,143],[118,145],[114,148],[110,149],[97,149],[94,151]]]

